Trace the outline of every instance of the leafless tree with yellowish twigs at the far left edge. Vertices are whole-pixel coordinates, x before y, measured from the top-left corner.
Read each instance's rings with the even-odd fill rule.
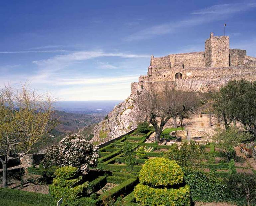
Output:
[[[0,90],[0,162],[3,165],[3,187],[7,187],[7,163],[29,153],[42,136],[56,126],[52,120],[50,94],[37,94],[28,84]],[[15,157],[11,154],[16,154]]]

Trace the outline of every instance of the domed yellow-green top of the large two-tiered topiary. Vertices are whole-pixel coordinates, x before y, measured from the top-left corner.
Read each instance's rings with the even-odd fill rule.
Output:
[[[142,184],[149,186],[172,186],[183,182],[181,167],[173,160],[155,158],[147,161],[139,174]]]

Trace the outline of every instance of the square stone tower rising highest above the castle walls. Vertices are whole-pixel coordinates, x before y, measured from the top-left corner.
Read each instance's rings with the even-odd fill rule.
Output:
[[[205,41],[205,67],[229,66],[229,36],[213,36]]]

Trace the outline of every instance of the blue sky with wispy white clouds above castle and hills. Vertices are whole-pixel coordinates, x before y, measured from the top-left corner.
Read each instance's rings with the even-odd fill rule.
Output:
[[[61,100],[115,100],[150,55],[203,51],[210,32],[256,56],[256,1],[0,2],[0,86],[30,81]]]

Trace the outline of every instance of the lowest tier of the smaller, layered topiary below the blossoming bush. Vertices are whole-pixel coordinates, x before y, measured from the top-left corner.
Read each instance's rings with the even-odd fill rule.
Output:
[[[63,197],[64,202],[74,201],[79,197],[87,194],[89,189],[89,182],[84,182],[81,185],[77,185],[73,188],[61,187],[56,185],[49,185],[49,194],[55,199],[60,199]]]

